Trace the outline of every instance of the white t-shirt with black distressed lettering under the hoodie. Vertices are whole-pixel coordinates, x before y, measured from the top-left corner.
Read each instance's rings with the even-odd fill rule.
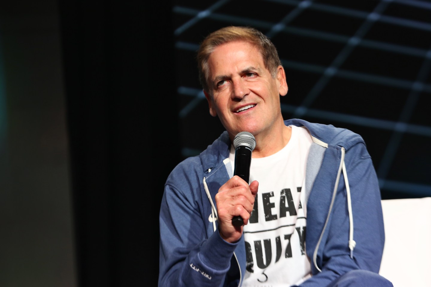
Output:
[[[290,126],[287,145],[252,158],[250,182],[259,182],[254,210],[244,226],[247,267],[243,287],[287,287],[311,276],[305,253],[305,167],[312,143],[305,128]],[[234,149],[229,159],[234,168]],[[304,188],[303,188],[304,187]]]

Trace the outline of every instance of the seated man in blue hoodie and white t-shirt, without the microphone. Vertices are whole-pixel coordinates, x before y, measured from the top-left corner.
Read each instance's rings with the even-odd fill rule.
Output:
[[[378,275],[381,198],[362,138],[283,120],[284,68],[253,28],[209,34],[197,60],[209,113],[226,131],[166,181],[159,286],[392,286]],[[256,139],[250,185],[233,176],[243,131]]]

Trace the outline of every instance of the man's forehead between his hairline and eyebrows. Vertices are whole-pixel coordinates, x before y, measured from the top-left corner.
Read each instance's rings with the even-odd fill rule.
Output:
[[[208,58],[211,76],[224,70],[241,69],[244,67],[262,68],[262,54],[256,45],[250,42],[234,41],[214,48]],[[233,72],[233,71],[232,71]]]

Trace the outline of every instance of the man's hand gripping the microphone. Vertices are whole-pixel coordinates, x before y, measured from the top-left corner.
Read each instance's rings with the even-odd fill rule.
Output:
[[[241,238],[243,227],[232,225],[232,218],[241,216],[244,225],[248,223],[258,187],[259,182],[256,180],[248,185],[244,179],[233,176],[219,188],[219,192],[215,195],[215,203],[219,218],[219,232],[225,241],[233,243]]]

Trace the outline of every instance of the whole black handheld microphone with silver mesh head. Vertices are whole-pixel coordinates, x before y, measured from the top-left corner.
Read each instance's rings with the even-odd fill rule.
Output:
[[[250,179],[251,153],[256,147],[256,139],[249,132],[240,132],[234,138],[235,167],[234,176],[239,176],[247,183]],[[242,226],[244,220],[240,216],[232,218],[232,225]]]

